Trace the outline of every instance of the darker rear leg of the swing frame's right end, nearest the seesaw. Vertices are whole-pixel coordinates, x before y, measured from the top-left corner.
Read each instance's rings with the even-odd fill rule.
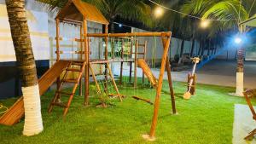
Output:
[[[162,37],[162,43],[163,43],[163,47],[165,48],[165,45],[166,45],[165,37]],[[170,93],[171,93],[172,113],[176,114],[175,95],[174,95],[174,90],[173,90],[173,86],[172,86],[171,66],[170,66],[170,61],[169,61],[168,55],[166,56],[166,71],[167,71],[167,76],[168,76],[169,89],[170,89]]]

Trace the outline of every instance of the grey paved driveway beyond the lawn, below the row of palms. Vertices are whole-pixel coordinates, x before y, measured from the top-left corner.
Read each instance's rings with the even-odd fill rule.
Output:
[[[244,67],[245,88],[256,88],[256,61],[246,61]],[[115,63],[112,69],[115,75],[119,75],[119,63]],[[158,77],[159,71],[153,72]],[[172,80],[186,82],[188,72],[172,72]],[[141,68],[137,68],[137,76],[142,77],[142,73]],[[129,75],[128,65],[124,66],[123,74],[124,76]],[[167,78],[166,73],[164,78]],[[212,60],[208,62],[197,70],[197,83],[236,87],[236,61]]]

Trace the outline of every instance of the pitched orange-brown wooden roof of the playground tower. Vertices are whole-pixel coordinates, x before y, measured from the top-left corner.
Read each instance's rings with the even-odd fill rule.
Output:
[[[95,6],[81,0],[69,0],[60,10],[56,18],[83,21],[86,20],[108,25],[108,20]]]

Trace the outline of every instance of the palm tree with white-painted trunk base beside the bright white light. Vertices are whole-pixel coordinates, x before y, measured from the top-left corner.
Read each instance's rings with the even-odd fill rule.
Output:
[[[239,25],[256,13],[255,0],[190,0],[184,5],[188,14],[200,14],[202,19],[218,19],[212,24],[212,35],[217,32],[236,31],[238,36],[247,32]],[[243,92],[244,46],[238,45],[236,68],[236,95]]]

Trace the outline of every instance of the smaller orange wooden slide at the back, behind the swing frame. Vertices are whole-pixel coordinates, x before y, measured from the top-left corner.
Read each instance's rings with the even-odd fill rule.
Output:
[[[157,85],[157,79],[154,77],[154,74],[151,72],[150,68],[148,67],[148,64],[143,59],[137,60],[137,66],[141,67],[143,69],[143,73],[148,78],[149,82],[156,87]]]

